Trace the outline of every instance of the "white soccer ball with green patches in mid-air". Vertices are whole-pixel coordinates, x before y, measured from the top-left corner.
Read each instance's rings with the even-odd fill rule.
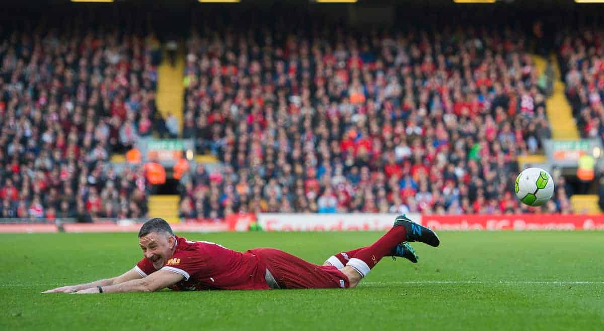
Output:
[[[516,178],[514,191],[523,204],[540,206],[554,194],[554,180],[541,168],[524,169]]]

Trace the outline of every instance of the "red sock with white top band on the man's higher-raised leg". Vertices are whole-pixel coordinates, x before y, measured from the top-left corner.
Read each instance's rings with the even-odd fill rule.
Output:
[[[407,232],[404,227],[391,228],[384,236],[377,239],[373,245],[356,252],[346,265],[352,266],[359,274],[365,277],[382,257],[390,254],[396,245],[406,240],[406,234]]]

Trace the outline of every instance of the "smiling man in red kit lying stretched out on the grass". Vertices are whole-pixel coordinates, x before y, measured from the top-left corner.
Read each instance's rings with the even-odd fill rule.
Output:
[[[189,241],[175,236],[165,220],[154,218],[138,232],[144,258],[133,269],[118,277],[43,293],[354,288],[384,256],[417,262],[406,242],[434,247],[440,243],[434,231],[402,215],[373,245],[338,253],[319,266],[273,248],[242,253],[216,243]]]

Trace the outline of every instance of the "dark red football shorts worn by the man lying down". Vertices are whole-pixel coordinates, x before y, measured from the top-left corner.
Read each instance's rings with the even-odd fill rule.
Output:
[[[251,249],[282,289],[348,288],[348,277],[335,266],[320,266],[274,248]]]

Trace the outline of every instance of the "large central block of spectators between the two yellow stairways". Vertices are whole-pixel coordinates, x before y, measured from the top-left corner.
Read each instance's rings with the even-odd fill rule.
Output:
[[[183,137],[225,169],[191,176],[181,217],[535,211],[513,194],[551,135],[524,34],[313,27],[193,31]]]

